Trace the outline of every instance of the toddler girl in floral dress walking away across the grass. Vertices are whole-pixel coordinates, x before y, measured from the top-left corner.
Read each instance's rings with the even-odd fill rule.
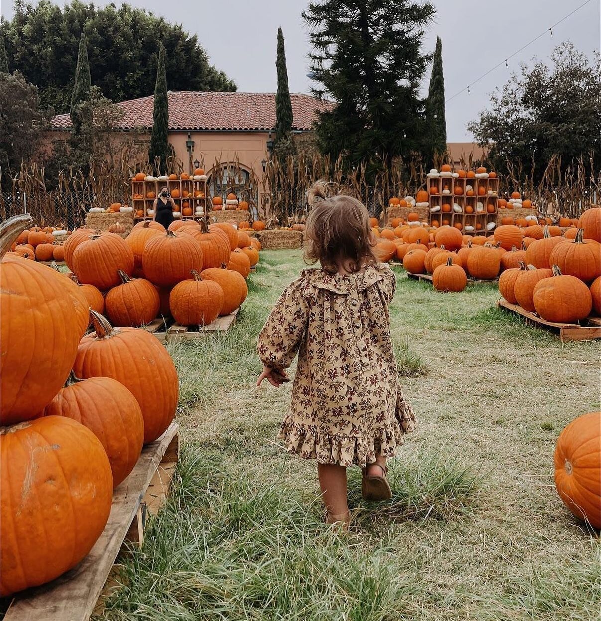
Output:
[[[309,190],[303,270],[280,296],[259,335],[264,379],[279,387],[298,351],[290,412],[279,438],[318,463],[327,522],[347,524],[346,469],[363,468],[363,497],[390,499],[386,460],[415,425],[399,386],[388,305],[396,279],[373,253],[365,206]]]

